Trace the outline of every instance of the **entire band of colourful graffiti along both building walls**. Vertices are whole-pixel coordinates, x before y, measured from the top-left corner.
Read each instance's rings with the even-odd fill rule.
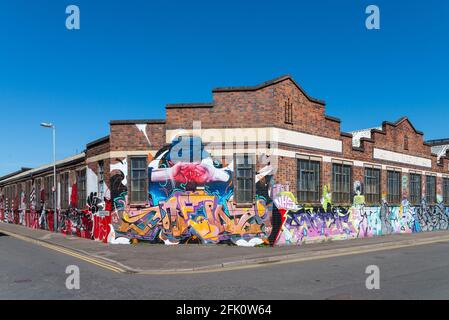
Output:
[[[143,126],[138,129],[146,132]],[[252,173],[253,201],[237,205],[234,163],[214,159],[197,137],[178,136],[154,156],[148,155],[147,190],[136,204],[130,201],[128,161],[112,159],[110,190],[98,187],[103,179],[88,168],[86,203],[78,203],[77,182],[72,181],[64,210],[47,209],[44,189],[34,182],[29,199],[24,192],[12,199],[0,194],[0,221],[53,231],[56,214],[59,231],[66,235],[111,244],[137,240],[166,245],[301,245],[449,229],[449,207],[442,204],[442,197],[437,197],[437,205],[422,201],[412,206],[407,201],[407,178],[402,179],[400,205],[388,204],[385,194],[380,205],[366,205],[359,181],[353,185],[352,205],[334,205],[329,185],[323,186],[317,205],[305,205],[288,185],[275,184],[276,168],[270,156],[262,155],[256,162],[261,168],[254,166]]]

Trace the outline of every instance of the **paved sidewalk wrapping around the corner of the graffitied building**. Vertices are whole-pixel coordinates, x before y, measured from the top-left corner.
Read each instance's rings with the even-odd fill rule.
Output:
[[[274,248],[194,244],[165,246],[146,243],[139,243],[138,245],[111,245],[4,223],[0,223],[1,232],[12,233],[63,247],[88,257],[120,266],[127,272],[144,274],[230,270],[232,268],[261,266],[267,263],[307,261],[331,256],[449,242],[449,231],[393,234],[366,239]]]

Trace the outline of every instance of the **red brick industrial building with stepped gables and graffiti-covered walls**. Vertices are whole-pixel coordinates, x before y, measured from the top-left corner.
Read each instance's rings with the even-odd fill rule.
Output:
[[[111,243],[284,245],[447,229],[446,140],[404,117],[345,133],[290,76],[169,104],[0,178],[0,219]],[[433,148],[433,149],[432,149]],[[437,152],[435,154],[432,152]]]

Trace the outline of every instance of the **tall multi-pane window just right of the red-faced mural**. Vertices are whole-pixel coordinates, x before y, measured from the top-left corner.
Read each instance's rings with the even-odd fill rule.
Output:
[[[235,155],[235,201],[237,204],[252,204],[255,190],[255,157],[249,154]]]

